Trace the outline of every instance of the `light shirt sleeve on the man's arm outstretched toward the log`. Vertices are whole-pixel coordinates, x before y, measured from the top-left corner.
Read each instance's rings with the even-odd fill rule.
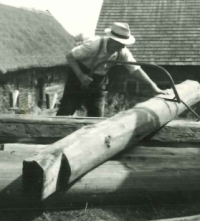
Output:
[[[119,55],[119,60],[122,61],[129,61],[129,62],[136,62],[135,58],[133,57],[132,53],[129,51],[128,48],[123,48],[120,55]],[[125,65],[125,67],[130,71],[130,72],[135,72],[136,70],[140,69],[141,67],[138,65]]]

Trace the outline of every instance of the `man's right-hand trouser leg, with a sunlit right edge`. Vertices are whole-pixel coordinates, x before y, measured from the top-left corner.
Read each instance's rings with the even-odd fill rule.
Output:
[[[103,117],[105,109],[106,92],[91,92],[86,97],[88,117]]]

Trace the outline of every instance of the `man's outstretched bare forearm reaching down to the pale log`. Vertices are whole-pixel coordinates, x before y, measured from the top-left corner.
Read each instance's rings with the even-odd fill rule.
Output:
[[[155,95],[166,94],[165,91],[158,88],[158,86],[150,79],[150,77],[141,68],[132,71],[130,74],[136,80],[149,84]]]

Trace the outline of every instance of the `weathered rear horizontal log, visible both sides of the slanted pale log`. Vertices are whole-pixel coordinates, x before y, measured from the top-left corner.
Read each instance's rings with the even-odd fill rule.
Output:
[[[86,125],[93,125],[106,118],[48,117],[34,115],[1,115],[0,143],[51,144]],[[200,142],[200,122],[176,119],[150,134],[143,142],[177,145]],[[171,145],[171,144],[169,144]],[[186,144],[187,145],[187,144]]]

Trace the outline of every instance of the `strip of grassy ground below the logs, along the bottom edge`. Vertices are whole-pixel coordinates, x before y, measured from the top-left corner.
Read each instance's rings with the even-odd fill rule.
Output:
[[[1,210],[1,221],[147,221],[200,214],[200,204],[121,205],[61,210]]]

